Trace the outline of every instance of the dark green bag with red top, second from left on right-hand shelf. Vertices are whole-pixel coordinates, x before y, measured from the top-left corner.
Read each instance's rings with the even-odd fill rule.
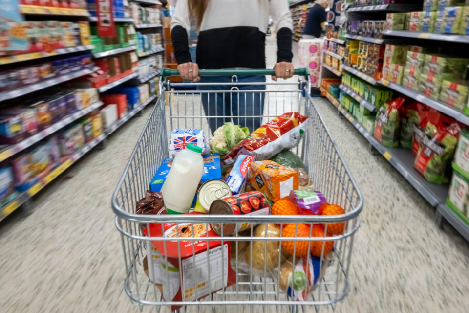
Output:
[[[426,110],[426,106],[418,102],[412,102],[399,108],[399,118],[401,123],[401,136],[399,142],[403,148],[412,148],[412,138],[414,135],[415,125],[420,124]]]

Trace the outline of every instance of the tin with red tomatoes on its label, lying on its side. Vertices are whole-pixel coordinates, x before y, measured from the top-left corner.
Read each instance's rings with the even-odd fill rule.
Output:
[[[214,215],[269,215],[269,202],[258,191],[245,192],[243,194],[215,200],[210,205],[209,214]],[[250,228],[253,223],[211,223],[213,230],[218,235],[230,236],[236,232]]]

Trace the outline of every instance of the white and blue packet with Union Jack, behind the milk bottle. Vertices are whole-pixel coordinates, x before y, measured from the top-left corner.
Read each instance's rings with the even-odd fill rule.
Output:
[[[205,155],[210,152],[210,146],[205,140],[205,132],[200,129],[186,128],[176,129],[171,132],[169,151],[172,156],[183,149],[186,149],[188,144],[196,145],[202,148],[202,154]]]

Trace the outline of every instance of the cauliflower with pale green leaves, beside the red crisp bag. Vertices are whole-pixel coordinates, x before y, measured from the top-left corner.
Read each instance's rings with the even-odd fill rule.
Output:
[[[210,140],[210,151],[220,156],[225,156],[230,152],[231,148],[240,143],[247,135],[249,135],[247,127],[240,127],[232,122],[226,122],[213,133],[213,137]]]

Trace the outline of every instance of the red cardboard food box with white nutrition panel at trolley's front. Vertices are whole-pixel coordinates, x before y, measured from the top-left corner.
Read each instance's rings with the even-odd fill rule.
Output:
[[[236,283],[236,273],[230,260],[231,242],[224,242],[222,246],[221,241],[202,239],[219,237],[210,224],[151,223],[149,231],[145,228],[143,232],[151,237],[169,238],[167,241],[151,241],[161,254],[165,301],[195,301]],[[201,240],[171,240],[176,237],[200,237]],[[179,307],[172,306],[171,310]]]

